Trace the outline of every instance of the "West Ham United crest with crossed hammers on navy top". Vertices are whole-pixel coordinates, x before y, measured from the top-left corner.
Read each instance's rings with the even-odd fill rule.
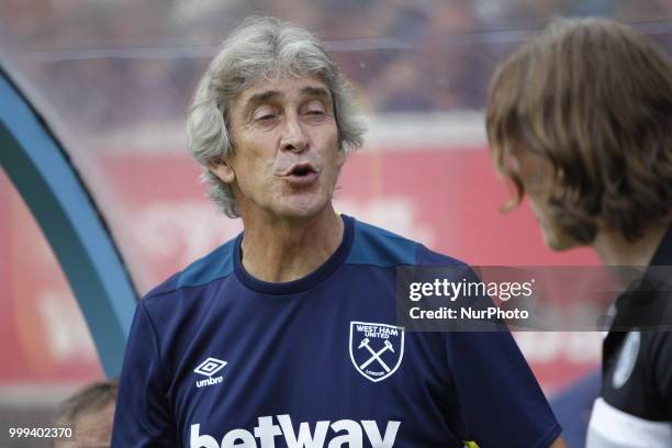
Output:
[[[399,369],[404,357],[404,328],[350,322],[350,359],[367,380],[378,382]]]

